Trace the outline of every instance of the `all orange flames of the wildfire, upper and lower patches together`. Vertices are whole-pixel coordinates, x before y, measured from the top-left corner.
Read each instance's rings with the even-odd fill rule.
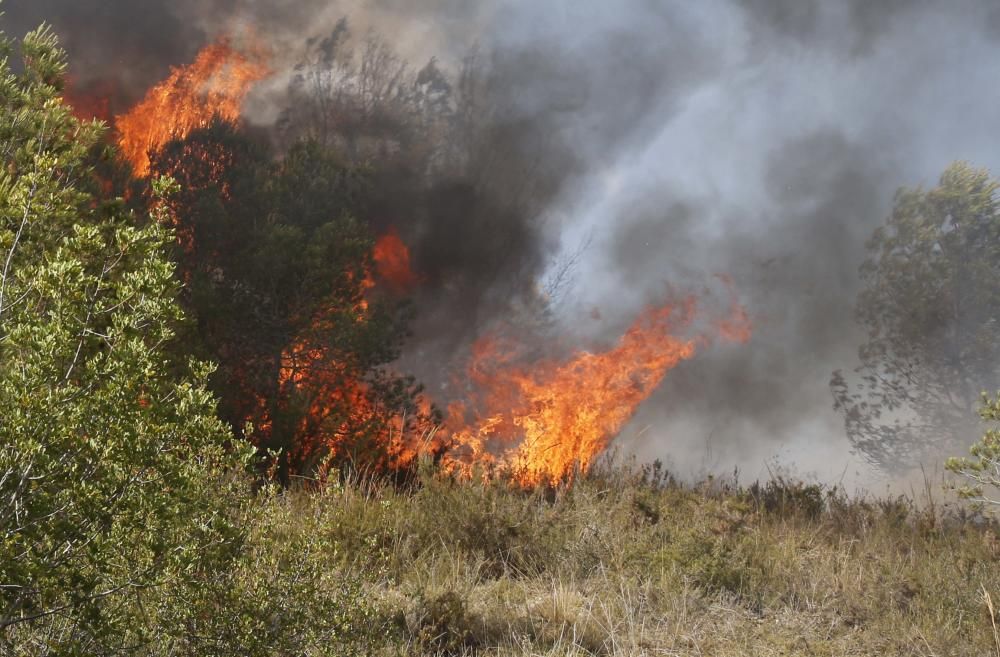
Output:
[[[116,119],[119,145],[137,176],[150,170],[150,153],[208,126],[218,117],[236,122],[254,84],[269,74],[261,48],[236,49],[228,40],[205,48],[186,67],[151,89],[135,108]],[[100,113],[84,108],[84,113]],[[225,169],[225,153],[192,150],[179,156]],[[210,167],[210,169],[211,169]],[[209,172],[210,174],[212,171]],[[182,180],[191,185],[191,181]],[[229,190],[220,192],[229,198]],[[181,227],[178,226],[180,229]],[[185,252],[193,233],[178,231]],[[420,282],[410,251],[390,229],[376,242],[373,266],[362,272],[360,301],[350,309],[357,321],[370,316],[369,292],[410,291]],[[731,281],[728,316],[711,324],[713,333],[734,342],[751,336],[749,317]],[[341,308],[341,311],[344,310]],[[298,463],[366,447],[384,456],[380,465],[405,467],[425,451],[461,476],[477,468],[503,473],[526,486],[554,485],[585,472],[656,390],[667,374],[693,358],[710,337],[694,328],[696,303],[646,309],[618,342],[604,351],[579,351],[563,359],[526,362],[521,349],[496,337],[479,340],[469,362],[464,400],[452,403],[437,434],[410,436],[407,417],[389,418],[379,406],[379,385],[364,368],[351,367],[349,354],[322,337],[334,333],[343,312],[330,308],[281,350],[277,380],[270,392],[250,390],[256,399],[249,419],[260,436],[288,436]],[[324,330],[330,329],[330,330]],[[694,334],[694,337],[680,337]],[[418,400],[417,412],[431,416],[431,403]],[[290,424],[291,423],[291,424]]]

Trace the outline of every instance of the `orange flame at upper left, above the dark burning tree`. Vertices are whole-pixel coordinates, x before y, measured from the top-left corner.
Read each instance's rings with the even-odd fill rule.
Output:
[[[254,84],[270,74],[260,47],[238,50],[228,39],[175,68],[127,114],[116,118],[118,145],[137,177],[149,174],[149,153],[218,117],[235,122]]]

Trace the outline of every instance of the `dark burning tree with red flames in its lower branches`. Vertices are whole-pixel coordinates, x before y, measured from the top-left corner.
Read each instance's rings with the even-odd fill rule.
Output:
[[[220,364],[224,417],[251,422],[248,438],[282,451],[282,476],[330,456],[391,464],[388,435],[417,430],[426,414],[413,381],[385,369],[406,331],[391,293],[406,257],[396,240],[376,249],[357,218],[364,170],[315,142],[275,157],[224,121],[169,144],[151,166],[183,190],[170,207],[185,299]],[[394,280],[385,293],[373,289],[377,254]]]

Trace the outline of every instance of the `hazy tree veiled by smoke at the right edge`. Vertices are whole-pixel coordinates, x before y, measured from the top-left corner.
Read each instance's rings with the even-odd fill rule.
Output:
[[[859,379],[832,387],[856,448],[887,469],[954,449],[1000,383],[1000,183],[956,163],[902,189],[868,244]]]

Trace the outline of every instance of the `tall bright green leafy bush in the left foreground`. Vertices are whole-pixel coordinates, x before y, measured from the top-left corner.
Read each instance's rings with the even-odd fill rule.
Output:
[[[162,213],[98,194],[103,127],[62,102],[50,31],[0,49],[0,652],[103,654],[143,640],[124,600],[232,538],[216,475],[235,455],[208,368],[168,348]]]

